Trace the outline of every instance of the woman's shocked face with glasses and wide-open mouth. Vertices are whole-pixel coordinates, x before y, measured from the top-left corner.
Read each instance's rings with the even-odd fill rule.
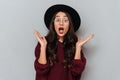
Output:
[[[54,20],[55,31],[59,38],[64,38],[69,30],[69,19],[64,12],[58,12]]]

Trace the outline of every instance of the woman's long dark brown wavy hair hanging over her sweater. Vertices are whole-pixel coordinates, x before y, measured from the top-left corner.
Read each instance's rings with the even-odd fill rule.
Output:
[[[72,60],[74,59],[75,49],[76,49],[75,44],[78,39],[74,32],[73,27],[75,26],[73,26],[70,15],[65,11],[62,11],[62,12],[64,12],[69,19],[69,30],[64,36],[64,40],[63,40],[63,49],[64,49],[63,66],[64,68],[67,68],[72,66]],[[56,14],[54,14],[50,22],[49,32],[46,35],[46,40],[48,43],[46,53],[47,53],[47,59],[49,60],[51,66],[57,62],[56,53],[57,53],[58,36],[54,28],[54,19]]]

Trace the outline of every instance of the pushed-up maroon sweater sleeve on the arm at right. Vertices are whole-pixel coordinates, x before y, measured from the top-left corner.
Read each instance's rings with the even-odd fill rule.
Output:
[[[72,67],[70,68],[71,74],[74,76],[80,76],[85,69],[86,58],[81,51],[81,59],[74,59],[72,61]]]

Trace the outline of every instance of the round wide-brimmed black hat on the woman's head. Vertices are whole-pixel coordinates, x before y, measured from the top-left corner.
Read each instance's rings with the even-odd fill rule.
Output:
[[[73,21],[74,31],[76,32],[81,24],[80,16],[75,9],[64,4],[56,4],[47,9],[44,15],[44,21],[45,21],[46,27],[49,29],[50,21],[53,15],[59,11],[65,11],[71,16]]]

